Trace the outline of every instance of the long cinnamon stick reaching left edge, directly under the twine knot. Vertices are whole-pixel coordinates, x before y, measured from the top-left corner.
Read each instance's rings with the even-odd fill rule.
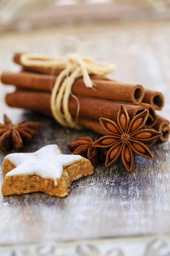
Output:
[[[3,72],[0,79],[3,84],[13,84],[21,89],[51,91],[57,76],[30,72]],[[82,78],[77,79],[71,89],[74,95],[90,96],[116,101],[133,102],[139,104],[144,96],[141,85],[125,84],[119,81],[106,80],[104,77],[91,76],[94,88],[85,87]]]

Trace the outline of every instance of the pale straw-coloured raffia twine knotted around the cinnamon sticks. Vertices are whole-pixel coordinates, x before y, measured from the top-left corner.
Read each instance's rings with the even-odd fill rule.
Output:
[[[78,53],[70,53],[65,56],[50,56],[24,53],[21,55],[21,63],[24,66],[63,68],[57,76],[51,93],[51,111],[54,118],[65,127],[77,128],[79,115],[79,100],[71,93],[74,81],[83,77],[87,88],[93,88],[93,81],[89,75],[107,76],[115,70],[115,67],[108,63],[99,63],[92,58],[86,58]],[[69,112],[69,97],[73,96],[77,100],[77,118],[72,119]],[[63,113],[62,113],[63,111]]]

